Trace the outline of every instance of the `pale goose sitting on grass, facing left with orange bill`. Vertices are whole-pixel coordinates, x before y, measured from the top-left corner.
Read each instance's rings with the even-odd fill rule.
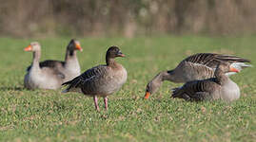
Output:
[[[28,89],[57,89],[61,87],[64,80],[64,75],[58,70],[39,65],[41,56],[41,46],[37,42],[32,42],[28,47],[24,48],[25,51],[33,52],[33,61],[30,70],[25,75],[24,85]]]

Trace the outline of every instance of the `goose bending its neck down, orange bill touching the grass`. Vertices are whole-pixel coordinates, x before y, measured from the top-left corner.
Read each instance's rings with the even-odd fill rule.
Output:
[[[236,56],[213,53],[194,54],[180,62],[175,69],[160,72],[150,80],[146,87],[145,98],[149,98],[151,94],[155,93],[164,80],[187,82],[190,80],[205,80],[212,78],[217,64],[221,62],[230,64],[230,68],[226,71],[226,75],[235,74],[240,72],[243,68],[251,66],[245,63],[250,61]]]

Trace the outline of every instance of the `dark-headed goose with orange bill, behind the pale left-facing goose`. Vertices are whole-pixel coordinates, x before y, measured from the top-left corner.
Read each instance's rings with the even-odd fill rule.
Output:
[[[39,65],[40,67],[51,67],[63,73],[65,75],[64,82],[72,80],[81,74],[80,65],[76,57],[76,50],[82,51],[83,49],[79,41],[72,39],[67,46],[64,62],[48,60],[40,62]],[[30,66],[27,70],[30,71]]]

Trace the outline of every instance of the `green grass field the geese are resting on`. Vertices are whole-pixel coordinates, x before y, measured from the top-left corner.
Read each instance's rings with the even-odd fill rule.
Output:
[[[78,53],[82,71],[105,63],[108,46],[120,46],[128,70],[123,88],[108,98],[109,110],[94,110],[92,98],[61,90],[26,90],[23,78],[33,39],[0,38],[0,141],[256,141],[256,69],[232,76],[241,98],[232,103],[187,102],[170,98],[165,82],[144,100],[148,80],[198,52],[235,54],[256,61],[256,36],[217,38],[159,36],[149,38],[83,38]],[[68,38],[41,39],[42,59],[63,60]],[[254,65],[255,66],[255,65]]]

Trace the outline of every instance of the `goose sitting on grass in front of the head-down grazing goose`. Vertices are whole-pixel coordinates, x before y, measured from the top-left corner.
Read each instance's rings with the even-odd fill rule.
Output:
[[[215,70],[215,78],[188,81],[182,87],[173,89],[172,98],[190,101],[223,99],[227,102],[238,99],[238,85],[225,74],[229,70],[229,65],[220,64]]]

